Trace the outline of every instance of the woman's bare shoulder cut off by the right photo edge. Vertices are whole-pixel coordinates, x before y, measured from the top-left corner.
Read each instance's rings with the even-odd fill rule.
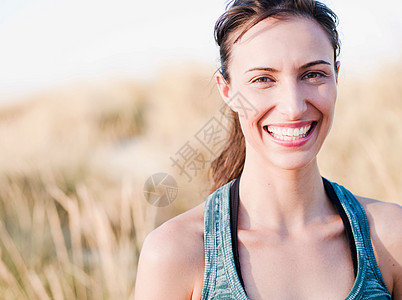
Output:
[[[356,198],[366,211],[373,248],[384,281],[390,291],[393,290],[394,297],[402,297],[402,207],[395,203]]]

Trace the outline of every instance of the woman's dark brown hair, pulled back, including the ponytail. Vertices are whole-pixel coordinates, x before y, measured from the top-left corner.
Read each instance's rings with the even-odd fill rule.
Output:
[[[230,82],[229,63],[232,45],[257,23],[269,18],[277,19],[300,16],[315,20],[326,32],[337,59],[340,50],[338,17],[325,4],[315,0],[234,0],[215,24],[215,41],[220,51],[220,72]],[[239,30],[242,31],[239,32]],[[237,33],[237,36],[233,36]],[[211,190],[223,186],[240,176],[246,157],[246,146],[238,114],[230,111],[230,134],[220,155],[212,162],[210,172]]]

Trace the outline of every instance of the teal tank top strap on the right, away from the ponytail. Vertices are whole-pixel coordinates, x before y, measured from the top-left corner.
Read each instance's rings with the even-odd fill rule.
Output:
[[[343,186],[330,182],[352,227],[357,251],[357,277],[349,299],[391,299],[378,267],[366,212],[356,197]]]

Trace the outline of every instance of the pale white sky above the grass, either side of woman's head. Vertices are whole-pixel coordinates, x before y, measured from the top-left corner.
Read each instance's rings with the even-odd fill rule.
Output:
[[[326,0],[339,16],[343,72],[402,60],[400,0]],[[382,3],[383,5],[380,5]],[[224,0],[0,0],[0,102],[68,81],[152,78],[182,59],[218,67]]]

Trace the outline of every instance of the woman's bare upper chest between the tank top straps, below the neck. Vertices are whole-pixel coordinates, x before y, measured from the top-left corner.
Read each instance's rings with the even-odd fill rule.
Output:
[[[353,287],[345,234],[283,239],[239,231],[238,247],[250,299],[345,299]]]

